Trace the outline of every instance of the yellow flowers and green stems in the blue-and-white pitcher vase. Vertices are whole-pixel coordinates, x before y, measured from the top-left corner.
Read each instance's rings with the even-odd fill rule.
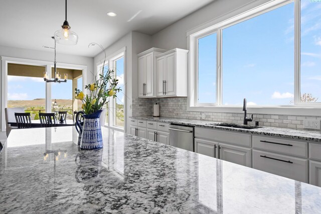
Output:
[[[93,44],[96,43],[91,43],[90,46],[93,46]],[[98,46],[104,51],[100,45]],[[105,61],[102,68],[104,68],[104,66]],[[113,70],[108,69],[105,74],[98,74],[98,78],[96,75],[94,83],[85,86],[85,89],[89,90],[86,96],[84,92],[75,88],[75,98],[82,101],[81,108],[85,114],[92,114],[101,110],[103,106],[109,102],[108,97],[117,97],[116,94],[121,91],[121,89],[117,88],[118,80],[113,77],[113,73]]]

